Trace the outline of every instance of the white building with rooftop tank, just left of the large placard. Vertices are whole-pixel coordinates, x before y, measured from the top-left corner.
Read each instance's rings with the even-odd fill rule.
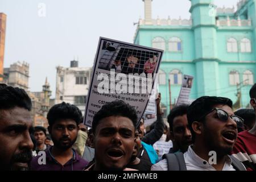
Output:
[[[79,68],[78,63],[73,60],[70,68],[56,68],[55,104],[64,101],[76,105],[84,115],[92,68]]]

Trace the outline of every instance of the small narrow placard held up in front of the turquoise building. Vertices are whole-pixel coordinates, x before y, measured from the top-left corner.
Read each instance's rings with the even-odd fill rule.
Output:
[[[183,76],[182,86],[180,89],[179,97],[177,98],[176,106],[189,103],[189,94],[191,92],[192,83],[193,83],[193,76],[189,76],[189,75]]]

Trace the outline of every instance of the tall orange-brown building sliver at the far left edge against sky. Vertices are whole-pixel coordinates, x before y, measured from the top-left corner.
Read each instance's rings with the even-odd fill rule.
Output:
[[[3,58],[5,55],[6,15],[0,13],[0,81],[3,80]]]

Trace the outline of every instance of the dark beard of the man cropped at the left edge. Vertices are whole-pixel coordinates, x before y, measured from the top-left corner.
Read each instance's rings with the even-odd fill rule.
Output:
[[[30,150],[23,151],[19,154],[13,155],[10,161],[10,170],[11,171],[28,171],[31,159],[32,159],[32,151]],[[14,166],[15,163],[27,163],[28,167]]]

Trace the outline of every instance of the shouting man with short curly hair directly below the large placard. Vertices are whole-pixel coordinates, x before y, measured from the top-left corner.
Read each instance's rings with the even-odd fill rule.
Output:
[[[125,166],[133,153],[136,123],[136,111],[125,102],[102,106],[92,123],[95,163],[86,170],[131,170]]]

